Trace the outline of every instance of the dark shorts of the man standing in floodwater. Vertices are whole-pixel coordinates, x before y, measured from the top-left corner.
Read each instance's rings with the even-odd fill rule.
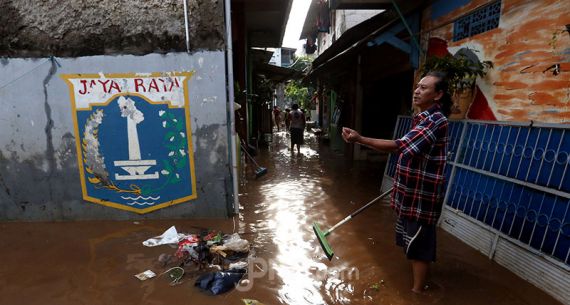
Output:
[[[396,221],[396,245],[404,249],[408,259],[435,262],[435,225],[398,218]]]

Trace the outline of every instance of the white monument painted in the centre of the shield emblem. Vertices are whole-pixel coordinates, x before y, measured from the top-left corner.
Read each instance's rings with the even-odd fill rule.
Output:
[[[141,148],[137,125],[144,120],[143,113],[135,106],[135,101],[124,96],[117,100],[121,109],[121,117],[127,119],[127,137],[129,144],[129,160],[115,161],[114,165],[125,170],[128,175],[115,174],[116,180],[148,180],[158,179],[159,174],[155,171],[152,174],[146,172],[154,165],[156,160],[141,160]]]

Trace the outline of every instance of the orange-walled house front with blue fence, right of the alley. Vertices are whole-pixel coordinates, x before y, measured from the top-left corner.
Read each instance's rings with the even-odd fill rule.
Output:
[[[313,1],[305,23],[312,29],[307,39],[329,39],[319,34],[327,29],[311,26],[323,20],[317,8],[328,8],[331,20],[342,9],[385,9],[333,36],[332,43],[315,43],[309,78],[319,86],[319,121],[331,147],[348,159],[378,155],[340,141],[341,127],[384,139],[410,128],[414,84],[428,59],[493,64],[454,96],[440,226],[565,304],[570,302],[566,2]],[[382,156],[388,158],[382,181],[387,189],[396,156]]]

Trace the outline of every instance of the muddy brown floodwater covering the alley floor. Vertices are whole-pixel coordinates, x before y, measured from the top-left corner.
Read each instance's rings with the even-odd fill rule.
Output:
[[[384,163],[349,162],[314,137],[301,154],[277,133],[259,163],[268,173],[245,171],[239,216],[224,220],[85,221],[1,223],[0,305],[111,304],[560,304],[444,231],[432,288],[410,293],[411,272],[393,242],[394,216],[378,203],[339,227],[328,240],[329,261],[312,231],[328,228],[378,195]],[[256,258],[249,283],[219,296],[194,287],[196,272],[170,286],[165,276],[139,281],[147,269],[161,273],[157,258],[169,246],[141,242],[175,225],[238,232]]]

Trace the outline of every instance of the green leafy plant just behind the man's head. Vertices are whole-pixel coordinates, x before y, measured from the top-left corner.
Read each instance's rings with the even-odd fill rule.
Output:
[[[484,77],[489,69],[493,68],[491,61],[474,60],[464,53],[455,56],[428,57],[420,68],[420,74],[424,76],[429,71],[442,71],[447,73],[449,93],[455,93],[472,88],[477,77]]]

